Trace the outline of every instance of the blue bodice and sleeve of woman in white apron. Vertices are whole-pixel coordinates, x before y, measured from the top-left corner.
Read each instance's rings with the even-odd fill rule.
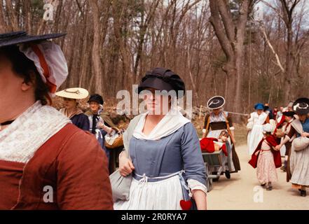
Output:
[[[206,184],[200,141],[192,123],[158,141],[132,137],[130,157],[135,173],[139,175],[167,176],[184,169],[186,180],[194,179]]]

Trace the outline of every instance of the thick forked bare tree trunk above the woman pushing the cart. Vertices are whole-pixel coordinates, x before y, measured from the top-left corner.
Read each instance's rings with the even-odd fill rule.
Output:
[[[228,79],[228,105],[233,111],[239,111],[242,103],[245,29],[254,2],[240,1],[235,18],[229,1],[210,0],[210,22],[226,55],[227,62],[223,69]]]

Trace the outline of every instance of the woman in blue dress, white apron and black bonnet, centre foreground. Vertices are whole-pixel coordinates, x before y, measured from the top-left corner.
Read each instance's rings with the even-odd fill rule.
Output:
[[[166,94],[173,90],[173,97]],[[206,209],[207,176],[198,135],[173,104],[184,91],[184,82],[169,69],[156,68],[142,78],[138,92],[147,112],[131,120],[119,158],[121,174],[133,174],[130,200],[117,201],[114,209],[190,209],[191,197],[198,209]]]

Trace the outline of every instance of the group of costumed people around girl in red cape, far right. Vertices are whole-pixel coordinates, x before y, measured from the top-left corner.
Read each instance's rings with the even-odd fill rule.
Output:
[[[249,161],[257,168],[257,178],[261,186],[272,190],[272,182],[277,181],[276,168],[282,167],[287,172],[287,182],[292,188],[306,196],[309,187],[309,99],[299,98],[290,102],[272,115],[266,111],[269,107],[256,104],[256,112],[251,113],[247,129]],[[279,113],[280,112],[280,113]],[[273,122],[271,122],[273,121]],[[281,151],[284,151],[284,164],[281,162]]]

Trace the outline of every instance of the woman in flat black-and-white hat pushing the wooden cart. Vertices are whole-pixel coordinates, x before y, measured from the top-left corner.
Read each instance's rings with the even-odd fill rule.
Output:
[[[227,130],[229,135],[229,143],[233,143],[231,152],[230,152],[230,164],[231,167],[226,165],[223,172],[226,175],[226,178],[230,179],[233,172],[238,172],[240,170],[240,161],[238,155],[235,151],[235,137],[233,127],[233,120],[229,113],[225,112],[223,109],[226,100],[224,97],[215,96],[208,100],[207,108],[210,109],[210,113],[205,116],[204,125],[202,129],[202,138],[212,137],[219,139],[219,134],[222,130]],[[228,163],[228,157],[224,156],[222,160]],[[217,168],[219,170],[219,168]],[[217,170],[215,170],[217,171]],[[214,171],[214,172],[215,172]]]

